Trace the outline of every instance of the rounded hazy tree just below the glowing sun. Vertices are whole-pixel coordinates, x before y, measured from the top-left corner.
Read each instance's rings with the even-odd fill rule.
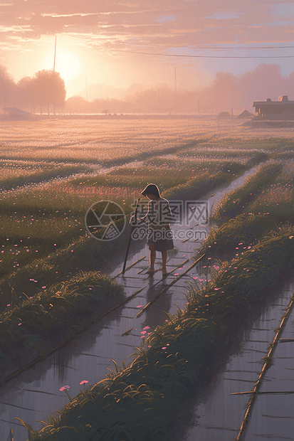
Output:
[[[55,70],[38,70],[31,80],[31,98],[35,105],[42,107],[47,105],[48,115],[50,105],[53,105],[53,113],[56,107],[63,107],[65,104],[65,83],[60,73]]]

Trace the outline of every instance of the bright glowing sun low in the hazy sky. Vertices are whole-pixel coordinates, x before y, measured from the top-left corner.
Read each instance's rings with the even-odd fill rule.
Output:
[[[42,63],[43,69],[53,69],[54,57],[53,55],[47,56]],[[55,70],[61,74],[61,78],[64,80],[65,85],[68,81],[73,80],[81,72],[81,63],[78,55],[72,51],[68,51],[63,48],[56,49],[56,61]]]

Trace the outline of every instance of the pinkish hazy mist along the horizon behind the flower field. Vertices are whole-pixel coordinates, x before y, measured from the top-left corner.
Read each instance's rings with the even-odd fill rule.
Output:
[[[35,74],[36,76],[36,74]],[[30,112],[40,112],[33,105],[28,94],[23,94],[23,85],[30,78],[22,78],[16,83],[4,66],[0,65],[0,106],[20,107]],[[253,112],[253,100],[278,100],[279,95],[288,95],[294,87],[294,72],[282,76],[280,66],[261,63],[254,70],[241,75],[216,73],[208,86],[197,88],[172,88],[166,83],[147,86],[134,84],[127,90],[110,85],[89,85],[79,95],[61,100],[56,109],[65,113],[218,113],[227,111],[236,115],[247,109]],[[34,108],[35,107],[35,108]]]

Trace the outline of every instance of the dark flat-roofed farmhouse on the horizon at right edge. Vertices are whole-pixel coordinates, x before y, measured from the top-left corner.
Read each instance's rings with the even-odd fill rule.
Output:
[[[278,101],[267,98],[266,101],[253,101],[258,117],[265,119],[294,119],[294,101],[289,101],[287,95],[278,97]]]

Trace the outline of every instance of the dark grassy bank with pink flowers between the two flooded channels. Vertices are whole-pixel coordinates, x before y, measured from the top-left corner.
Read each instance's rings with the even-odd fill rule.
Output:
[[[294,230],[266,238],[241,257],[224,262],[214,282],[191,287],[187,306],[137,348],[130,366],[114,369],[80,392],[33,439],[41,441],[169,440],[171,421],[203,378],[204,366],[233,340],[254,304],[285,267],[294,265]],[[66,427],[65,427],[66,426]]]

